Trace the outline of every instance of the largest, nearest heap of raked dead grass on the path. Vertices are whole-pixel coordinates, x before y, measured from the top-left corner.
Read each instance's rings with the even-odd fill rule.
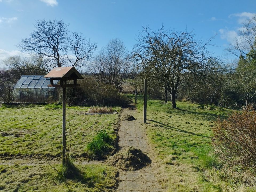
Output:
[[[135,171],[150,164],[151,160],[140,149],[128,147],[110,157],[106,162],[125,171]]]

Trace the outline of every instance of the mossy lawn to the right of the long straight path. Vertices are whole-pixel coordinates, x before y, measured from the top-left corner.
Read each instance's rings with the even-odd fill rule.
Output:
[[[227,118],[233,111],[198,106],[177,101],[177,109],[173,109],[171,101],[165,104],[148,99],[145,126],[157,154],[159,181],[168,191],[255,191],[229,177],[230,173],[222,168],[213,153],[211,127],[218,116]],[[142,117],[141,95],[137,108]],[[242,172],[240,177],[244,177]]]

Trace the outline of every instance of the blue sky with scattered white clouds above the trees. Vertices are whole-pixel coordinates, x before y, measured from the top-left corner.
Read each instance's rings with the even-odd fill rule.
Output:
[[[162,24],[165,29],[194,30],[202,40],[217,34],[213,40],[216,46],[210,50],[230,59],[225,49],[242,22],[256,13],[255,7],[255,0],[0,0],[0,63],[9,56],[22,55],[16,45],[41,19],[70,23],[70,31],[97,42],[98,50],[113,37],[122,39],[131,50],[142,25],[153,30]]]

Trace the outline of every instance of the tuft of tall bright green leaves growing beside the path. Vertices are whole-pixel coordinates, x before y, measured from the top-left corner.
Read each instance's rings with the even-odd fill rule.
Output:
[[[113,148],[112,144],[111,135],[106,129],[100,129],[94,139],[86,145],[86,149],[96,157],[103,157],[105,152]]]

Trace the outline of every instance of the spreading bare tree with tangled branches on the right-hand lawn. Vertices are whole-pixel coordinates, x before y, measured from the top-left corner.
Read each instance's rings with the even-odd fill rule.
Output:
[[[165,31],[163,27],[154,32],[143,27],[132,55],[138,63],[138,70],[167,89],[172,106],[176,108],[177,88],[186,74],[202,76],[203,71],[210,67],[212,57],[206,50],[210,40],[203,44],[194,39],[193,32]]]

